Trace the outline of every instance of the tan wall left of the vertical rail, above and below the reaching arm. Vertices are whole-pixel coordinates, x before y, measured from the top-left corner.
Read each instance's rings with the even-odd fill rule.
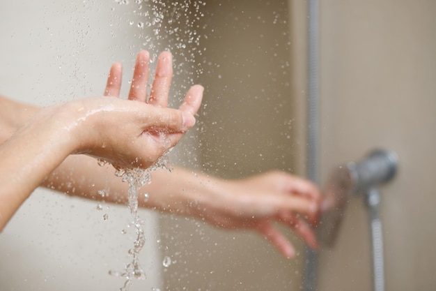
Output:
[[[205,107],[198,118],[205,172],[241,178],[271,169],[295,172],[302,140],[295,140],[295,100],[286,1],[207,1]],[[299,255],[286,260],[254,232],[217,230],[185,218],[162,222],[166,290],[297,290]],[[185,289],[184,289],[185,288]]]

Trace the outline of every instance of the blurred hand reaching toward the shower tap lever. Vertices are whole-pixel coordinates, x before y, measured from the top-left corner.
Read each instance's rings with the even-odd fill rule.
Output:
[[[274,171],[219,184],[226,192],[224,204],[215,200],[201,214],[213,225],[256,230],[287,258],[295,255],[295,249],[274,225],[277,222],[290,227],[312,248],[318,247],[311,225],[318,221],[320,193],[311,182]]]

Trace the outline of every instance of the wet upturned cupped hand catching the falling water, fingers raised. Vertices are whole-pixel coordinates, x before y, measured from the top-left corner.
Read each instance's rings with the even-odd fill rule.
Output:
[[[179,109],[171,109],[167,107],[173,76],[171,53],[160,54],[149,96],[148,71],[149,54],[141,51],[134,68],[129,100],[118,98],[122,66],[115,63],[104,91],[107,97],[78,101],[77,120],[87,123],[88,128],[79,132],[79,140],[83,142],[77,153],[104,158],[115,167],[146,168],[194,126],[194,114],[201,105],[203,87],[191,87]]]

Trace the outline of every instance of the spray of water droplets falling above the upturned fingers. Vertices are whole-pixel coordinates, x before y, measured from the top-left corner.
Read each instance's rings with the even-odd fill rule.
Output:
[[[203,73],[205,58],[201,48],[201,33],[207,24],[200,24],[204,17],[201,8],[204,0],[114,0],[123,6],[131,6],[134,17],[125,20],[141,40],[141,49],[150,52],[150,63],[157,60],[157,52],[169,50],[174,59],[174,75],[183,75],[183,84],[177,90],[181,96],[194,79]],[[130,45],[136,54],[137,47]],[[153,75],[153,74],[150,74]]]

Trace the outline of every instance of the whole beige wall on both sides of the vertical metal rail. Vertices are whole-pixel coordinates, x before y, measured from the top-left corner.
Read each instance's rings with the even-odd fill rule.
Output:
[[[436,162],[435,8],[434,1],[320,5],[322,181],[334,166],[357,161],[376,147],[400,157],[396,180],[381,188],[387,290],[436,287],[431,230],[436,185],[430,168]],[[306,1],[288,6],[210,1],[205,9],[214,33],[204,43],[211,66],[201,80],[207,104],[200,124],[201,163],[221,177],[270,168],[304,174]],[[274,13],[281,20],[287,15],[288,27],[271,21],[259,25],[258,19]],[[288,81],[277,81],[289,56]],[[277,86],[281,82],[289,87]],[[283,122],[287,119],[293,122]],[[302,255],[286,262],[254,234],[168,219],[166,238],[176,241],[176,248],[164,253],[178,262],[164,273],[169,290],[302,286]],[[361,199],[352,200],[336,246],[322,248],[319,260],[318,290],[371,290],[368,217]]]

